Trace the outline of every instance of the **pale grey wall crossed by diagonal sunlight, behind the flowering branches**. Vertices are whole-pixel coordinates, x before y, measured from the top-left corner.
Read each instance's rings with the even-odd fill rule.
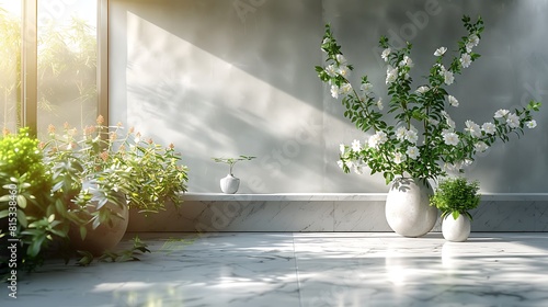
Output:
[[[457,123],[547,100],[546,0],[111,0],[111,121],[174,143],[193,192],[219,192],[228,169],[210,157],[235,155],[259,157],[235,168],[241,193],[385,192],[381,177],[336,167],[339,144],[365,136],[313,70],[322,62],[323,25],[332,24],[354,79],[367,71],[386,93],[378,37],[414,45],[419,81],[435,48],[464,35],[465,13],[481,14],[486,31],[482,58],[449,89],[461,105]],[[547,110],[536,129],[471,167],[468,177],[483,192],[548,192]]]

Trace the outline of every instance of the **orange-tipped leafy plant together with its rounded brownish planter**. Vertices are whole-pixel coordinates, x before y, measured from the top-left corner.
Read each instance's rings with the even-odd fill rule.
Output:
[[[68,206],[88,220],[78,231],[72,229],[78,235],[72,234],[71,241],[94,254],[122,239],[129,208],[149,214],[164,209],[168,202],[179,205],[187,181],[173,145],[162,147],[133,128],[103,122],[99,116],[96,125],[82,132],[65,125],[61,135],[50,125],[44,144],[46,164],[65,178],[54,192],[70,191]]]

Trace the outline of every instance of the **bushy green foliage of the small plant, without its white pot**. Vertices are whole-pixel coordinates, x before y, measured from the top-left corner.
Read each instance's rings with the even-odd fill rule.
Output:
[[[465,178],[446,179],[439,182],[434,195],[430,198],[430,205],[436,206],[442,212],[442,218],[452,215],[457,219],[459,215],[466,215],[472,219],[469,211],[479,205],[479,182],[468,182]]]

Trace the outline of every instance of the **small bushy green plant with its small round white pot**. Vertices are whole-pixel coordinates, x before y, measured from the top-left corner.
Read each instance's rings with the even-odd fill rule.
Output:
[[[480,202],[479,182],[452,178],[439,182],[430,204],[442,212],[442,234],[448,241],[461,242],[470,236],[469,211]]]

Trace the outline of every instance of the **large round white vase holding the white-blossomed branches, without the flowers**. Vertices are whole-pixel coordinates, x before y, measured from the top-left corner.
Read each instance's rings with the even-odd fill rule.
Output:
[[[430,206],[434,191],[425,180],[398,178],[390,184],[386,198],[386,220],[404,237],[426,235],[437,220],[437,208]]]

